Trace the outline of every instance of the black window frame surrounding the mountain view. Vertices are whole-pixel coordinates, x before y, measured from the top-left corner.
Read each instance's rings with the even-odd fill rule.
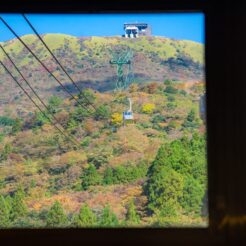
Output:
[[[238,245],[245,240],[246,155],[243,1],[8,0],[1,13],[204,12],[208,130],[208,228],[9,229],[3,245]],[[233,223],[235,222],[235,223]],[[5,244],[4,244],[5,243]]]

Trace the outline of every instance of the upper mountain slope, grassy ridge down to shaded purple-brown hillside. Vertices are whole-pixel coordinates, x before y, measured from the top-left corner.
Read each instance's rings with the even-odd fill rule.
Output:
[[[109,64],[109,61],[112,59],[112,52],[125,47],[130,47],[133,51],[135,82],[163,82],[165,79],[203,80],[204,47],[196,42],[164,37],[77,38],[64,34],[46,34],[43,38],[81,88],[91,87],[99,91],[113,89],[117,79],[116,66]],[[77,93],[36,36],[25,35],[22,39],[71,92]],[[17,39],[4,42],[3,46],[43,99],[52,94],[67,96]],[[11,68],[10,62],[2,52],[0,59]],[[15,73],[13,68],[11,71]],[[26,100],[25,95],[23,97],[23,93],[2,67],[0,85],[0,112],[3,103],[21,106],[23,100]]]

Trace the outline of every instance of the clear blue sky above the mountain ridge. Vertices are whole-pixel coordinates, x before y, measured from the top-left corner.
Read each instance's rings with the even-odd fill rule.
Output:
[[[20,14],[1,14],[22,36],[33,33]],[[153,35],[204,43],[204,15],[179,14],[28,14],[40,34],[64,33],[74,36],[115,36],[123,34],[123,23],[146,22]],[[0,41],[14,38],[0,21]]]

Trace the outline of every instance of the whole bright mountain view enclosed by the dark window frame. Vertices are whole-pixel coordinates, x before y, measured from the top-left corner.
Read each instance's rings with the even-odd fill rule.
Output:
[[[203,14],[0,28],[0,228],[207,227]]]

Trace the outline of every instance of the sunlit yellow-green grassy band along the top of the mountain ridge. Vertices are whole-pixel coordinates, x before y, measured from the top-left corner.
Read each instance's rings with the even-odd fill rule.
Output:
[[[63,48],[65,42],[67,42],[68,47],[73,52],[80,54],[79,38],[77,37],[65,34],[45,34],[43,38],[52,51]],[[35,50],[43,48],[41,42],[37,40],[35,35],[25,35],[22,37],[22,40],[28,46],[34,45]],[[16,56],[23,51],[23,45],[17,39],[7,41],[3,44],[7,52],[14,52]],[[188,40],[173,40],[164,37],[142,37],[139,38],[137,42],[129,42],[129,40],[118,37],[91,37],[84,41],[85,47],[92,50],[94,54],[102,52],[105,47],[117,44],[127,45],[136,51],[144,50],[145,52],[155,52],[164,60],[170,57],[176,57],[178,53],[188,54],[195,62],[203,63],[203,45]],[[2,53],[0,53],[0,58],[3,58]]]

